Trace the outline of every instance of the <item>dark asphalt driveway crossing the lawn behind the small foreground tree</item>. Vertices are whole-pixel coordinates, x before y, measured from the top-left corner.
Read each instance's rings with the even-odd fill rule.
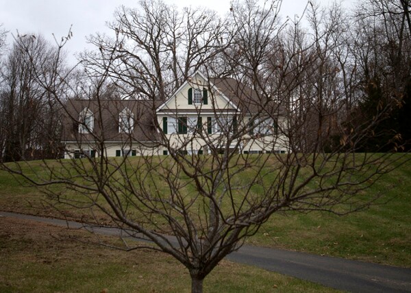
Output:
[[[70,228],[84,228],[105,235],[119,235],[116,228],[84,226],[79,222],[0,212],[0,216],[46,222]],[[1,225],[1,218],[0,218]],[[136,235],[138,240],[144,240]],[[170,238],[173,241],[172,238]],[[310,255],[294,251],[242,246],[226,259],[305,279],[349,292],[411,292],[411,269],[358,262],[338,257]]]

